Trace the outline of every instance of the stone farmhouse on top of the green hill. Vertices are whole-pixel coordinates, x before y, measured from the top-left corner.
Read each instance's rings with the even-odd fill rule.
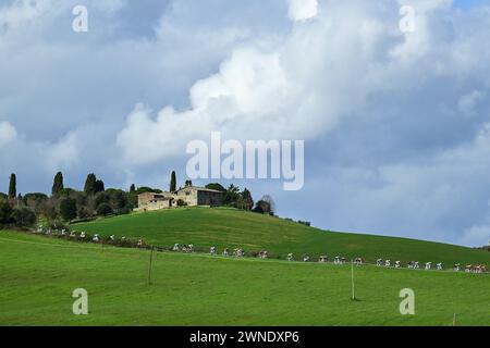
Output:
[[[144,192],[138,195],[138,210],[151,211],[177,207],[179,200],[188,207],[223,204],[223,192],[197,186],[186,186],[176,192]]]

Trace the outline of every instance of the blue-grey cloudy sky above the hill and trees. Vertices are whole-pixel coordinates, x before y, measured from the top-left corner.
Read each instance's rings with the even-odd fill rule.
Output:
[[[302,190],[235,184],[322,228],[485,245],[489,37],[487,0],[0,0],[0,191],[167,188],[213,130],[304,139]]]

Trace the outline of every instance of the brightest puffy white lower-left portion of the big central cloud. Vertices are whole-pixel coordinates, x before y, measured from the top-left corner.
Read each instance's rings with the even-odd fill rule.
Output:
[[[184,153],[187,141],[207,139],[216,129],[240,139],[278,138],[293,128],[295,134],[301,134],[301,128],[304,134],[309,133],[309,125],[299,122],[299,115],[287,120],[287,107],[296,107],[301,96],[287,79],[277,52],[236,49],[218,74],[198,80],[189,95],[189,110],[177,112],[168,107],[155,120],[149,109],[135,108],[117,141],[126,163],[150,163],[179,156]]]

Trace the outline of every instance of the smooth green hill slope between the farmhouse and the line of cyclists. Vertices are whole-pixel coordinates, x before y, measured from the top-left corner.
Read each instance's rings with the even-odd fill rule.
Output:
[[[283,219],[233,209],[187,208],[148,213],[134,213],[72,228],[102,236],[144,238],[154,246],[194,244],[197,247],[242,247],[246,251],[266,249],[271,257],[284,259],[293,252],[311,257],[328,254],[330,259],[343,256],[363,257],[368,262],[378,258],[408,262],[443,262],[490,264],[490,252],[465,247],[422,240],[326,232]]]

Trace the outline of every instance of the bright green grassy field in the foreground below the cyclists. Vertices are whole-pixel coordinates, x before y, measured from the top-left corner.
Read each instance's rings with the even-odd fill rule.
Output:
[[[490,277],[75,244],[0,232],[0,325],[490,325]],[[73,289],[88,315],[72,313]],[[415,315],[399,293],[415,291]]]

